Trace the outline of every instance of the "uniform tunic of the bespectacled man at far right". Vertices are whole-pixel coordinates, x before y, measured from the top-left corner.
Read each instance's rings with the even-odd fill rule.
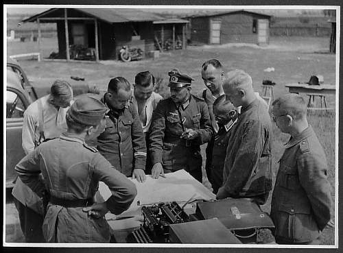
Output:
[[[285,145],[272,195],[270,216],[276,242],[317,239],[331,213],[327,159],[311,126]]]

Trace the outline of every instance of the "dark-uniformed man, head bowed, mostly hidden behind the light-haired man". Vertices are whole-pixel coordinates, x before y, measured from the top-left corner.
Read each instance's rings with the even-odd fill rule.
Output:
[[[213,147],[211,150],[211,184],[213,193],[217,193],[223,184],[223,168],[226,157],[226,148],[228,139],[231,136],[231,130],[237,123],[238,112],[230,101],[226,101],[225,95],[215,99],[213,103],[213,114],[219,126],[216,134],[213,134],[211,141]]]

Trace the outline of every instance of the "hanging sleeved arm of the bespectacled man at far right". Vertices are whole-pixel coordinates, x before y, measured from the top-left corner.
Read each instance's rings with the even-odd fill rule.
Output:
[[[307,193],[319,230],[331,218],[331,185],[327,180],[327,160],[320,154],[305,152],[297,157],[299,180]]]

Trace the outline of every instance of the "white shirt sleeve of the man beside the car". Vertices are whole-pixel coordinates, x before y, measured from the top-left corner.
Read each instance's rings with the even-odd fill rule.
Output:
[[[31,110],[24,112],[23,130],[21,132],[22,146],[25,154],[34,151],[36,142],[36,124],[38,118]]]

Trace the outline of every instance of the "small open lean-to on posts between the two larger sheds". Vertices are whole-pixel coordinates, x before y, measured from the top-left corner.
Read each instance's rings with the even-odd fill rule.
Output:
[[[165,19],[154,21],[155,42],[160,50],[186,48],[186,25],[189,21],[184,19]]]

